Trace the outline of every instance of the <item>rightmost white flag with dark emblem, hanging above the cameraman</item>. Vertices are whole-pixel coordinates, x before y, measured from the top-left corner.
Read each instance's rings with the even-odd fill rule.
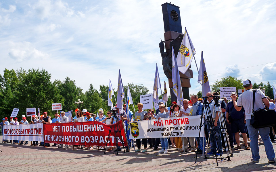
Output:
[[[202,96],[206,96],[208,92],[211,92],[205,62],[203,59],[203,51],[201,52],[200,68],[198,72],[198,83],[202,85]]]

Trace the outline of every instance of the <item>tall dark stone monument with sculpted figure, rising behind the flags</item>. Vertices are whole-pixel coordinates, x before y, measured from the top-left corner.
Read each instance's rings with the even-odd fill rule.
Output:
[[[171,4],[162,4],[163,21],[164,21],[164,38],[165,40],[160,42],[159,48],[162,56],[162,65],[166,77],[169,80],[171,101],[177,102],[177,97],[173,93],[172,83],[172,47],[174,48],[175,57],[177,57],[178,50],[183,39],[181,18],[179,7]],[[165,43],[165,45],[164,45]],[[164,52],[166,48],[166,51]],[[193,78],[193,71],[188,69],[185,74],[180,74],[181,86],[184,99],[190,99],[189,87],[191,87],[190,78]]]

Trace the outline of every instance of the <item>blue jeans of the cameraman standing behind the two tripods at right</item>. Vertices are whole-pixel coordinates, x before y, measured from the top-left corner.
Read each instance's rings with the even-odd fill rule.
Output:
[[[216,153],[216,147],[218,148],[218,151],[220,153],[223,153],[220,128],[221,128],[221,125],[220,125],[220,122],[218,120],[218,125],[214,127],[214,131],[215,131],[214,134],[216,134],[216,137],[218,138],[218,142],[216,142],[215,138],[213,140],[213,136],[212,136],[212,134],[210,134],[211,152],[213,152],[213,153]],[[209,125],[207,125],[207,131],[208,131],[208,134],[209,134],[209,132],[210,132],[210,126]]]

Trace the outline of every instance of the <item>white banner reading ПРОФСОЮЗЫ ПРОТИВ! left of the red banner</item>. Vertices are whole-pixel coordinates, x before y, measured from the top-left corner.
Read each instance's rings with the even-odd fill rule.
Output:
[[[27,140],[43,142],[43,124],[4,126],[4,140]]]

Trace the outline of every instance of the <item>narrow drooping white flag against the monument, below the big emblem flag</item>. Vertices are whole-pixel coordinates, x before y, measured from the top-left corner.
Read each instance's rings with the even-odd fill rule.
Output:
[[[174,58],[174,56],[173,56],[173,58]],[[181,80],[180,80],[180,76],[179,76],[179,70],[178,70],[176,58],[174,58],[174,59],[175,59],[175,73],[174,73],[174,79],[173,79],[173,93],[177,97],[177,100],[178,100],[180,106],[181,105],[183,106],[184,99],[183,99],[183,93],[182,93],[182,87],[181,87]]]

